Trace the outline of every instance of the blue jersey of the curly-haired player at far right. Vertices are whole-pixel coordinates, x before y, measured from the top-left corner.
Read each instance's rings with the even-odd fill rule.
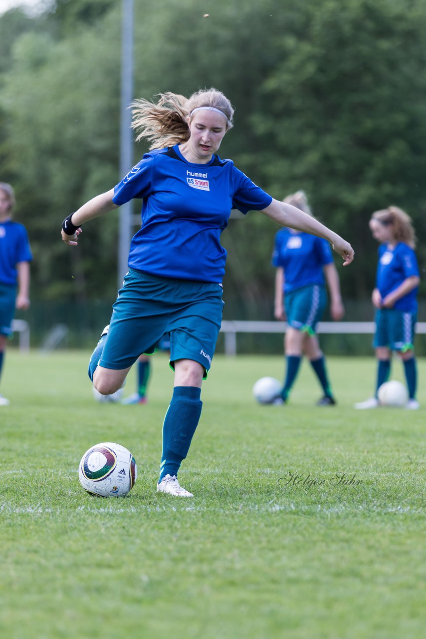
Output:
[[[416,254],[409,245],[399,242],[393,249],[386,244],[379,246],[379,263],[377,265],[376,288],[382,298],[398,288],[407,277],[418,276]],[[406,312],[417,311],[418,286],[401,297],[394,309]]]

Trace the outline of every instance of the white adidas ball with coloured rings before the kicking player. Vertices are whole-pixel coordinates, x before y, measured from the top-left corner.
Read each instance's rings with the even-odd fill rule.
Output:
[[[98,443],[81,458],[80,484],[91,495],[123,497],[132,490],[136,478],[135,458],[119,443]]]

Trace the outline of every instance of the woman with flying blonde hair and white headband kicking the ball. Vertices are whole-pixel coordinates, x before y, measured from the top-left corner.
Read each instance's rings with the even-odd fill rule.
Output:
[[[151,142],[151,151],[114,189],[83,204],[62,227],[64,242],[76,245],[87,220],[131,199],[142,200],[142,226],[132,238],[129,271],[89,376],[100,393],[116,391],[139,355],[152,352],[153,344],[170,334],[174,390],[163,424],[157,490],[178,497],[192,497],[177,475],[199,422],[202,380],[222,321],[226,251],[220,234],[231,209],[259,210],[282,226],[323,236],[344,264],[353,260],[351,245],[340,236],[273,199],[231,160],[216,155],[233,114],[231,102],[216,89],[190,98],[165,93],[156,104],[136,100],[132,127],[137,141]]]

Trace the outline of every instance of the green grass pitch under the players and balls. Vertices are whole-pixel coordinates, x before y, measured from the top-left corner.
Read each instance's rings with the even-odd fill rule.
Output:
[[[291,404],[262,407],[252,385],[281,378],[282,358],[215,358],[179,473],[195,497],[177,500],[155,491],[166,358],[154,356],[149,403],[118,406],[93,401],[88,356],[7,355],[0,636],[424,636],[426,409],[353,410],[373,358],[330,359],[339,404],[321,409],[307,364]],[[137,460],[126,498],[80,487],[80,457],[105,441]]]

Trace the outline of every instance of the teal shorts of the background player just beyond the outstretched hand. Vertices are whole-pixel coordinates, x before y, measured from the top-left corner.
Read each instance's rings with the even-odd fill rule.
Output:
[[[284,302],[288,325],[314,335],[327,305],[324,286],[312,284],[285,293]]]

